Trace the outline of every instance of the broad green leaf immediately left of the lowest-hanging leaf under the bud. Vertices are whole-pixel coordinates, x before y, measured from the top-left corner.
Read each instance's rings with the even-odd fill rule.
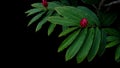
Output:
[[[72,59],[77,52],[79,51],[79,49],[81,48],[85,38],[87,35],[87,28],[83,29],[79,35],[77,36],[77,38],[73,41],[73,43],[71,44],[71,46],[67,49],[66,55],[65,55],[65,59],[66,61]]]

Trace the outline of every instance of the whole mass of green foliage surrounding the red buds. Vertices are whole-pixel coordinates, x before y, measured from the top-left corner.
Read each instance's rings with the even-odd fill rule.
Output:
[[[39,20],[36,26],[36,31],[39,31],[45,23],[50,23],[48,27],[50,36],[56,25],[60,25],[63,30],[58,37],[66,38],[58,47],[58,52],[67,49],[66,61],[76,58],[77,63],[85,59],[90,62],[95,56],[102,56],[105,49],[116,47],[115,61],[120,62],[120,32],[110,27],[117,14],[103,11],[101,0],[81,0],[84,4],[99,8],[95,8],[96,11],[79,5],[78,1],[52,1],[48,2],[48,7],[42,3],[33,3],[31,5],[33,8],[25,12],[27,16],[34,15],[28,26]],[[99,3],[100,5],[96,5]],[[88,20],[88,25],[84,28],[80,26],[82,18]]]

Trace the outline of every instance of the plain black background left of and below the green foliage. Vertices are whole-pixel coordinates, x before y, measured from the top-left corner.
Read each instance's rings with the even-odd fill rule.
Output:
[[[41,2],[41,0],[15,0],[5,2],[5,15],[3,26],[3,52],[4,62],[10,66],[41,66],[44,65],[119,65],[114,61],[115,48],[107,49],[101,57],[96,57],[92,62],[87,60],[81,64],[76,64],[75,58],[65,62],[65,51],[57,53],[57,48],[63,38],[57,38],[59,31],[57,27],[54,33],[47,36],[47,26],[35,32],[35,26],[27,27],[30,17],[24,13],[31,8],[30,4]],[[3,9],[3,10],[4,10]]]

